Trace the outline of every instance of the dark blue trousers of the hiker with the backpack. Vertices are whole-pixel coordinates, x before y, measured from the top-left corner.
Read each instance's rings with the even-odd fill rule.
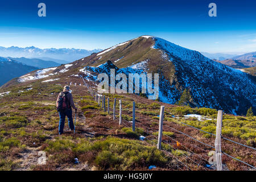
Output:
[[[68,109],[67,111],[64,112],[59,112],[60,115],[60,122],[59,122],[59,134],[63,134],[63,129],[65,125],[65,118],[67,116],[68,118],[68,126],[71,130],[74,130],[74,123],[73,123],[73,118],[72,118],[72,109]]]

